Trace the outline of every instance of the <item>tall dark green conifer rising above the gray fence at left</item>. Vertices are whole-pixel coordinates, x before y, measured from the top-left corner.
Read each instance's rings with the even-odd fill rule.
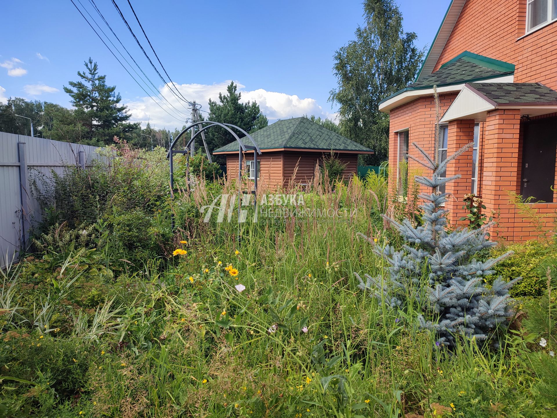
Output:
[[[139,124],[126,123],[131,115],[126,106],[120,105],[120,94],[115,94],[116,86],[106,85],[106,75],[99,75],[99,66],[91,58],[85,61],[86,71],[77,71],[82,81],[70,81],[74,90],[64,86],[64,91],[72,98],[75,116],[85,127],[84,142],[96,144],[112,143],[114,135],[139,129]]]

